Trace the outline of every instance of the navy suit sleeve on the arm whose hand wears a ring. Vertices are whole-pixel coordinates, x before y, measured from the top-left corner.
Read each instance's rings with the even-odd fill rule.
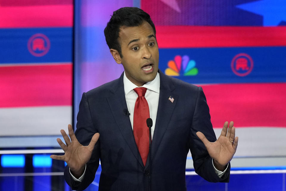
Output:
[[[212,158],[209,156],[203,142],[196,135],[198,131],[202,132],[209,141],[216,141],[209,114],[209,107],[201,87],[198,88],[189,140],[195,172],[209,182],[229,182],[230,164],[225,174],[219,178],[214,170]]]

